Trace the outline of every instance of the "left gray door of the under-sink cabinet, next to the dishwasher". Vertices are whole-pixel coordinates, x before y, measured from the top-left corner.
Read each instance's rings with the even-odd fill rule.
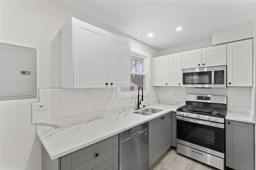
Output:
[[[160,117],[148,123],[148,167],[150,168],[162,156],[161,121]]]

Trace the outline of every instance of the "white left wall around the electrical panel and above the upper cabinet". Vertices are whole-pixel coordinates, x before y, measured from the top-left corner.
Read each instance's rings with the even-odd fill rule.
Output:
[[[0,42],[37,49],[38,88],[60,87],[60,28],[71,17],[106,29],[52,0],[1,0]],[[158,56],[158,50],[130,37],[131,46]],[[37,99],[0,101],[0,170],[40,170],[41,145],[31,125]]]

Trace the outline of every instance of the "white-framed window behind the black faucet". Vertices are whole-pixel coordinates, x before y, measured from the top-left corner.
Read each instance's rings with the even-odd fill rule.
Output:
[[[117,98],[137,97],[139,86],[143,86],[143,95],[150,96],[150,54],[131,49],[131,86],[117,88]]]

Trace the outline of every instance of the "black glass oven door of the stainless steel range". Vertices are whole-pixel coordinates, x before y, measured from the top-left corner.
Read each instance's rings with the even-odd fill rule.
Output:
[[[177,139],[187,143],[224,153],[224,131],[222,123],[177,116]]]

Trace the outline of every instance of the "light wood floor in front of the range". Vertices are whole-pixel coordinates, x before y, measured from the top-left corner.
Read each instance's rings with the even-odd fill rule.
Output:
[[[149,170],[217,170],[169,149]]]

